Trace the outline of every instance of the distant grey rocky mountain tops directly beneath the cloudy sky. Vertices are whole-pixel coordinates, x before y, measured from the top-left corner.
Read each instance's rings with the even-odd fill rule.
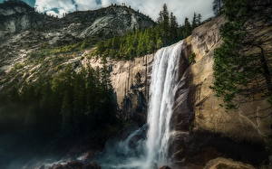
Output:
[[[80,38],[93,35],[107,37],[154,25],[151,18],[127,6],[112,5],[95,11],[67,14],[66,17],[57,19],[39,14],[20,1],[0,4],[0,19],[0,38],[8,33],[20,33],[29,29],[69,33]]]

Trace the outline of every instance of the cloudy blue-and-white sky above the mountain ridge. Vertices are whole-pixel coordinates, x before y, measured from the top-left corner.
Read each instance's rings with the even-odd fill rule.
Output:
[[[0,0],[3,2],[4,0]],[[35,6],[38,12],[63,15],[72,13],[76,10],[85,11],[105,7],[111,4],[131,5],[135,10],[150,15],[154,20],[157,19],[162,5],[166,3],[169,10],[173,12],[180,24],[184,22],[185,17],[190,19],[194,12],[202,14],[203,20],[213,15],[213,0],[24,0],[29,5]]]

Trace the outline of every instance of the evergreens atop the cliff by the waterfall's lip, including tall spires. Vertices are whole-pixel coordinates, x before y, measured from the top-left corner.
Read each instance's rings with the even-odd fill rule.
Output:
[[[201,14],[195,14],[193,25],[186,18],[184,25],[179,26],[176,16],[163,5],[156,26],[99,42],[95,54],[115,60],[131,60],[186,38],[200,22]]]

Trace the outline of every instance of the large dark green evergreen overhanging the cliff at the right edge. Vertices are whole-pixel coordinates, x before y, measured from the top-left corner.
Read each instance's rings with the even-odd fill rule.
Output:
[[[269,14],[266,10],[259,11],[262,5],[256,0],[224,0],[223,4],[228,23],[220,30],[224,43],[215,52],[212,89],[224,99],[226,108],[238,108],[239,96],[249,100],[259,93],[263,97],[272,96],[268,62],[271,50],[267,48],[272,41],[266,36],[271,31],[262,30]],[[261,14],[257,15],[261,24],[251,20],[254,14]]]

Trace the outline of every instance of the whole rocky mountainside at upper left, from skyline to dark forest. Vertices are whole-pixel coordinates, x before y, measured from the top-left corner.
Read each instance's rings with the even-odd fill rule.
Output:
[[[121,5],[58,19],[11,1],[0,5],[0,18],[0,88],[15,80],[35,79],[33,74],[55,72],[67,62],[81,61],[83,48],[91,49],[101,39],[155,24],[148,16]]]

